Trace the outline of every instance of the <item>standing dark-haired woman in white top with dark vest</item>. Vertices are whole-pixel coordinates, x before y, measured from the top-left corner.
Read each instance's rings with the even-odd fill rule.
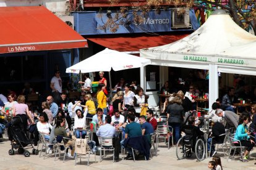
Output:
[[[142,107],[145,107],[148,102],[147,96],[143,94],[142,87],[138,87],[136,90],[136,95],[134,96],[134,108],[137,115],[140,115]]]

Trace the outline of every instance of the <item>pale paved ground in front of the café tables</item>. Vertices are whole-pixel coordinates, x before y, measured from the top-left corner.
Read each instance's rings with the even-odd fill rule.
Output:
[[[40,145],[41,146],[41,145]],[[90,166],[87,166],[87,159],[82,158],[82,164],[74,165],[75,161],[70,158],[65,163],[62,160],[54,162],[54,155],[43,157],[39,155],[30,155],[25,158],[23,155],[15,152],[15,155],[8,155],[8,150],[11,148],[10,142],[6,141],[4,144],[0,144],[0,169],[208,169],[207,164],[211,158],[207,158],[201,162],[197,162],[193,155],[190,159],[177,160],[176,148],[167,149],[167,146],[163,143],[158,147],[158,155],[153,155],[149,161],[145,160],[120,160],[119,162],[113,163],[111,160],[111,153],[108,153],[105,160],[101,163],[94,162],[94,157],[90,158]],[[31,151],[31,149],[30,149]],[[223,158],[223,154],[218,152],[222,156],[221,161],[223,163],[223,169],[256,169],[254,163],[256,162],[256,148],[251,152],[251,160],[248,163],[242,163],[237,160],[227,161]],[[61,155],[62,156],[62,155]],[[238,158],[238,156],[236,156]],[[99,156],[96,156],[99,161]]]

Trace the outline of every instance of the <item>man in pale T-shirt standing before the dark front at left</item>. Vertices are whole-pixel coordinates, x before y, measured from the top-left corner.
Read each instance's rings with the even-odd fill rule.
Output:
[[[59,96],[62,93],[62,80],[60,76],[61,73],[59,72],[59,70],[55,70],[54,73],[55,73],[55,76],[51,78],[50,87],[52,89],[51,92],[53,93],[54,100],[58,101]]]

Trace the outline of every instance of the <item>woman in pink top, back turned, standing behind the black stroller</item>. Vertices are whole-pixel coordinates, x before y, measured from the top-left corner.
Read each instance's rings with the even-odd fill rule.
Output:
[[[23,129],[25,132],[27,131],[27,126],[28,126],[27,116],[28,118],[30,118],[32,124],[34,124],[34,120],[29,113],[28,105],[25,104],[25,96],[19,95],[19,97],[17,98],[17,102],[18,103],[15,103],[13,108],[13,115],[19,116],[22,119]]]

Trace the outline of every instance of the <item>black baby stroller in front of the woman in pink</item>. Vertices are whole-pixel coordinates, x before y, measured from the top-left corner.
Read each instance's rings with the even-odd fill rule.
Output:
[[[33,147],[30,140],[28,140],[27,135],[23,131],[22,119],[19,116],[12,118],[7,132],[12,146],[9,150],[9,155],[14,155],[14,149],[18,149],[18,153],[23,153],[25,157],[28,157],[30,156],[30,152],[26,150],[27,148],[33,148],[32,153],[34,155],[38,155],[38,150]]]

